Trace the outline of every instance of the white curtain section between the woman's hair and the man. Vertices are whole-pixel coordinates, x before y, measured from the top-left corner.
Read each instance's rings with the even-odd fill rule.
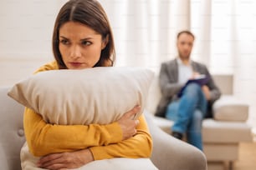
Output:
[[[100,1],[115,33],[116,65],[154,70],[174,57],[176,34],[189,28],[188,0]]]

